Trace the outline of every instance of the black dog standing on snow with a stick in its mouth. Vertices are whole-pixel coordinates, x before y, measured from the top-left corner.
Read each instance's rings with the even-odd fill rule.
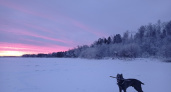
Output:
[[[117,74],[116,77],[110,76],[112,78],[116,78],[117,79],[117,84],[119,86],[119,92],[122,92],[122,90],[124,92],[126,92],[126,89],[129,86],[132,86],[135,88],[135,90],[137,90],[138,92],[143,92],[142,88],[141,88],[141,84],[144,85],[144,83],[142,83],[141,81],[137,80],[137,79],[124,79],[122,74]]]

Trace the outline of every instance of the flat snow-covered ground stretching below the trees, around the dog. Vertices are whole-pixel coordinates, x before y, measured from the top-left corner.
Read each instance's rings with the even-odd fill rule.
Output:
[[[69,58],[0,58],[0,92],[119,92],[109,77],[117,73],[141,80],[144,92],[171,92],[171,63]]]

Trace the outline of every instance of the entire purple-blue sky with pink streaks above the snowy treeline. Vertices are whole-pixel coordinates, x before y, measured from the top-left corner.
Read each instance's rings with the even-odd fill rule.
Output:
[[[67,51],[171,20],[171,0],[0,0],[0,56]]]

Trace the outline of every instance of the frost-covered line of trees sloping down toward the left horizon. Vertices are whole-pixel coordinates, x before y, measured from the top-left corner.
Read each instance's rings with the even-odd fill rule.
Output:
[[[99,38],[90,46],[83,45],[64,52],[51,54],[26,54],[23,57],[69,57],[101,59],[137,58],[137,57],[171,57],[171,21],[142,25],[137,31],[126,31],[123,36],[112,35]]]

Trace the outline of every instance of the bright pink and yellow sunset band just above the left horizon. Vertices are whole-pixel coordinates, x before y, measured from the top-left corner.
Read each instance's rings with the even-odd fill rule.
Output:
[[[52,53],[67,51],[69,47],[49,45],[35,46],[27,44],[0,43],[0,56],[22,56],[23,54]]]

